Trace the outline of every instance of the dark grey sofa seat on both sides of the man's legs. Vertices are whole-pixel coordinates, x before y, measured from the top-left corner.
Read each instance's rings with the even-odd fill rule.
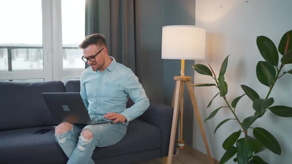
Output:
[[[33,132],[42,128],[51,130],[44,134],[33,134]],[[21,138],[19,134],[21,134]],[[23,159],[30,164],[44,163],[43,159],[47,159],[47,164],[64,164],[67,161],[63,151],[55,141],[52,126],[4,130],[0,131],[0,136],[0,152],[4,153],[1,154],[1,158],[7,163],[13,163],[14,160],[10,159],[12,154],[17,157],[17,161]],[[156,149],[160,151],[160,148],[160,128],[135,119],[129,123],[127,135],[120,142],[109,147],[96,148],[92,158],[96,161],[141,151],[146,152]],[[32,154],[35,158],[28,159]]]

